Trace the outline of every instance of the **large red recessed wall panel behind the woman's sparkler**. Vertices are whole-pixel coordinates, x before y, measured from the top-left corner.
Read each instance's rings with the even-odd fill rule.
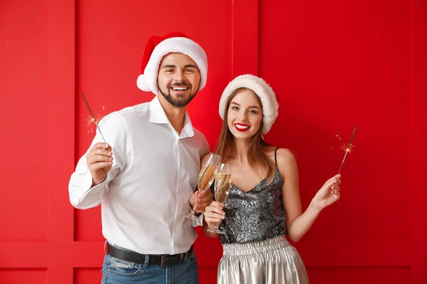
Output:
[[[305,239],[409,239],[410,38],[409,1],[260,3],[260,75],[280,104],[267,141],[295,151],[303,207],[339,169],[334,134],[360,127],[342,200]]]

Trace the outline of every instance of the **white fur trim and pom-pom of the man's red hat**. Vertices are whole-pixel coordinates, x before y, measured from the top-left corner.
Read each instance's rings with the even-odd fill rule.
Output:
[[[139,75],[137,86],[145,92],[153,92],[159,94],[157,88],[157,75],[159,73],[159,65],[162,62],[164,55],[169,53],[183,53],[196,62],[200,71],[199,90],[206,85],[208,77],[208,58],[203,48],[189,38],[167,38],[159,43],[153,50],[149,58],[147,66],[144,69],[144,74]]]

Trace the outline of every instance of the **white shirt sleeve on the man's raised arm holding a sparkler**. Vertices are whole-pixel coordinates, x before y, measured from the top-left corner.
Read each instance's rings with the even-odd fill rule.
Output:
[[[71,175],[68,184],[70,203],[78,209],[88,209],[99,205],[102,196],[109,190],[108,185],[110,181],[125,167],[128,133],[125,119],[118,112],[113,112],[105,116],[98,126],[102,131],[105,142],[112,147],[112,167],[103,182],[91,187],[93,180],[89,167],[86,164],[86,155],[96,143],[104,142],[102,135],[97,129],[95,138],[93,138],[88,151],[78,161],[75,172]]]

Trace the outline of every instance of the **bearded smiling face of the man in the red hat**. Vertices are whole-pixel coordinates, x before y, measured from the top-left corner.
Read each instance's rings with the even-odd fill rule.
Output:
[[[200,78],[194,60],[182,53],[169,53],[160,62],[157,84],[169,104],[185,107],[199,91]]]

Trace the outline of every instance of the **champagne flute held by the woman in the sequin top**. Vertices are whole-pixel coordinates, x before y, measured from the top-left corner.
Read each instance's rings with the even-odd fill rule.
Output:
[[[231,168],[228,164],[219,164],[218,173],[215,178],[215,200],[220,204],[224,204],[228,197],[228,192],[231,187]],[[225,234],[218,228],[218,223],[215,224],[214,229],[207,229],[211,233]]]

